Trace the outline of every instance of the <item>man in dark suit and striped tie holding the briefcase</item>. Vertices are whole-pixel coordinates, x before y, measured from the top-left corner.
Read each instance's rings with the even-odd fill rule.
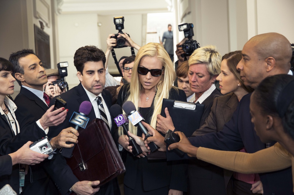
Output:
[[[103,89],[105,85],[105,61],[105,54],[95,46],[85,46],[76,50],[74,65],[78,71],[77,76],[81,83],[68,92],[57,96],[66,101],[69,113],[63,123],[50,127],[50,136],[56,136],[61,129],[74,126],[74,124],[69,122],[70,117],[73,112],[78,112],[83,101],[89,101],[92,104],[92,109],[87,117],[90,118],[90,121],[95,118],[101,118],[104,122],[108,123],[111,135],[115,143],[117,143],[118,132],[114,130],[116,125],[112,124],[113,118],[109,113],[112,105],[112,96],[107,90]],[[51,100],[50,105],[54,104],[54,100],[57,97]],[[101,110],[101,106],[103,106],[104,111]],[[97,168],[99,168],[99,162],[97,162]],[[117,179],[113,179],[101,186],[98,194],[120,194]]]

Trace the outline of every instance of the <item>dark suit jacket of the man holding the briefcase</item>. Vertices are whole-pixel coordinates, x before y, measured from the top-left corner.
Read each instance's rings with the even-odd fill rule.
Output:
[[[107,107],[108,107],[108,110],[110,110],[110,107],[112,105],[112,101],[111,101],[111,94],[104,90],[102,91],[101,93]],[[60,125],[58,126],[52,126],[49,128],[49,133],[48,133],[48,136],[50,137],[55,137],[56,135],[59,134],[59,132],[62,130],[62,129],[66,129],[70,126],[74,127],[74,124],[70,123],[69,122],[69,119],[71,118],[72,114],[74,112],[78,112],[79,110],[79,107],[81,105],[81,103],[83,101],[90,101],[89,98],[88,98],[88,95],[86,93],[86,91],[84,90],[82,84],[80,83],[78,86],[70,89],[69,91],[67,91],[66,93],[62,93],[61,95],[59,95],[64,101],[66,101],[67,103],[67,109],[69,109],[69,112],[67,113],[66,115],[66,118],[64,120],[63,123],[61,123]],[[51,102],[50,102],[50,105],[54,105],[54,102],[55,102],[55,99],[59,96],[55,96]],[[87,115],[88,118],[90,118],[90,121],[92,121],[93,119],[96,118],[96,114],[95,114],[95,111],[92,107],[92,110],[91,112]],[[113,118],[111,117],[111,121],[113,121]],[[118,141],[118,132],[117,132],[117,128],[116,128],[116,125],[114,123],[112,123],[112,128],[111,128],[111,135],[115,141],[115,143],[117,143]],[[56,160],[54,160],[56,161]],[[99,168],[99,163],[97,162],[97,168]],[[112,195],[112,194],[120,194],[120,191],[119,191],[119,187],[118,187],[118,183],[117,183],[117,179],[113,179],[111,180],[110,182],[104,184],[103,186],[100,187],[100,190],[97,192],[97,194],[109,194],[109,195]]]

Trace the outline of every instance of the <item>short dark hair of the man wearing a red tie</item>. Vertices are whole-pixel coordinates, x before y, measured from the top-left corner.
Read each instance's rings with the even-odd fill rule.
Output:
[[[20,51],[17,51],[17,52],[14,52],[14,53],[10,54],[9,61],[14,66],[14,71],[13,71],[13,74],[12,74],[12,76],[14,78],[15,78],[15,76],[14,76],[15,73],[24,74],[24,67],[19,64],[19,59],[22,58],[22,57],[26,57],[29,54],[36,55],[33,49],[22,49]],[[15,80],[21,86],[21,81],[19,81],[16,78],[15,78]]]

